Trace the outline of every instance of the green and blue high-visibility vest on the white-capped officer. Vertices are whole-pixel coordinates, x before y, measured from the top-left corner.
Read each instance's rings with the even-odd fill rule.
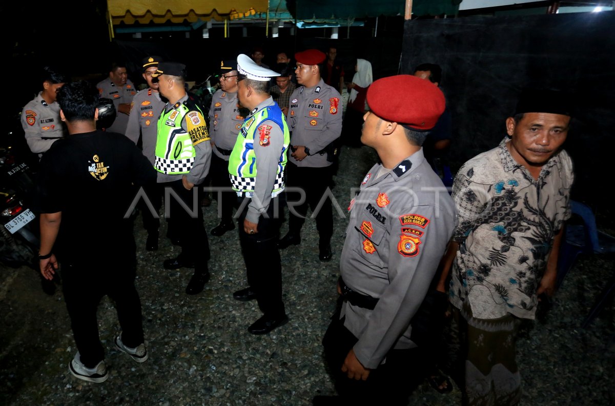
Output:
[[[271,120],[284,130],[284,145],[280,151],[280,161],[277,165],[276,182],[274,183],[271,196],[275,197],[284,190],[284,167],[286,166],[287,149],[290,145],[290,133],[282,110],[279,106],[267,106],[257,111],[252,117],[245,119],[237,134],[237,141],[229,157],[229,175],[232,189],[242,193],[253,193],[256,185],[256,154],[254,153],[255,135],[261,123]],[[260,136],[256,136],[256,142],[261,142]],[[266,140],[265,142],[268,142]]]

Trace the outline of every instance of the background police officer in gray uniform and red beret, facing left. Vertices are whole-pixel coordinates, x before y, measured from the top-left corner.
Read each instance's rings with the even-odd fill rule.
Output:
[[[288,234],[278,242],[280,249],[301,242],[301,227],[308,213],[308,205],[315,211],[319,202],[322,207],[316,213],[316,228],[319,233],[319,258],[331,259],[331,236],[333,235],[333,212],[331,199],[325,197],[333,178],[333,159],[330,147],[342,130],[341,96],[335,88],[320,78],[320,66],[325,54],[317,49],[308,49],[295,54],[295,74],[301,87],[290,97],[288,126],[291,130],[291,148],[287,166],[287,185],[301,188],[306,200],[299,205],[298,193],[287,193]]]

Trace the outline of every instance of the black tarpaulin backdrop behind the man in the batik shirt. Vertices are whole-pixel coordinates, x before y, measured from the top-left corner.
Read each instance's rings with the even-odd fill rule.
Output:
[[[615,12],[468,17],[405,22],[402,73],[442,66],[453,112],[451,167],[494,148],[525,86],[573,92],[576,113],[565,149],[573,198],[608,207],[615,131]]]

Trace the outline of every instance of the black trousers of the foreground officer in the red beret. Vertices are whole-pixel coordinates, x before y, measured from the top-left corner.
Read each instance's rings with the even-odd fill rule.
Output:
[[[329,373],[341,397],[339,404],[407,405],[411,392],[425,377],[422,351],[419,348],[391,349],[384,364],[371,370],[367,380],[357,381],[347,378],[346,373],[341,371],[348,352],[357,341],[359,340],[344,327],[344,319],[339,319],[339,310],[336,311],[331,317],[331,324],[322,344]]]

